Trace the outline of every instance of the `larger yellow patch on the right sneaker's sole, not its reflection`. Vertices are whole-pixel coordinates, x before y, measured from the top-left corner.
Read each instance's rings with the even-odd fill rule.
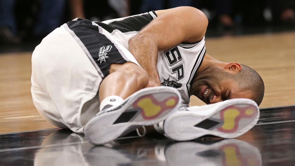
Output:
[[[237,109],[228,109],[224,111],[224,124],[222,128],[225,130],[231,130],[235,127],[235,118],[240,115],[240,111]]]

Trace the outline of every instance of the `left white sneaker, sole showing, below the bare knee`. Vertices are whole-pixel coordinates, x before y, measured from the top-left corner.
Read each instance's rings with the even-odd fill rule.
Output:
[[[165,120],[180,104],[181,95],[175,88],[141,89],[121,105],[96,114],[86,123],[84,134],[92,144],[105,144],[139,126],[149,126]]]

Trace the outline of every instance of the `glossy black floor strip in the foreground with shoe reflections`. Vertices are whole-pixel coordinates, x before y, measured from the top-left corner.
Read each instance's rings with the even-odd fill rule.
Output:
[[[175,142],[157,136],[94,146],[65,129],[2,134],[0,165],[294,165],[295,106],[260,113],[258,124],[236,139],[205,136]]]

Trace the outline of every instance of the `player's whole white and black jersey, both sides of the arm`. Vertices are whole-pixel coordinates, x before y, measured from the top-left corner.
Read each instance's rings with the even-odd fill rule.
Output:
[[[129,50],[128,40],[156,17],[157,15],[152,11],[95,23],[105,30],[105,35],[112,36]],[[180,43],[166,51],[158,52],[157,69],[161,84],[179,90],[182,106],[190,102],[190,83],[206,53],[204,39],[205,37],[195,43]]]

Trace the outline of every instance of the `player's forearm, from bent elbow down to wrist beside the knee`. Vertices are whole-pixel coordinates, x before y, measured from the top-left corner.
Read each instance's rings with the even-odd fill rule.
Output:
[[[140,66],[148,72],[150,81],[153,80],[160,85],[160,78],[156,67],[158,61],[158,47],[154,40],[150,38],[148,34],[138,34],[130,38],[128,44],[129,51]]]

